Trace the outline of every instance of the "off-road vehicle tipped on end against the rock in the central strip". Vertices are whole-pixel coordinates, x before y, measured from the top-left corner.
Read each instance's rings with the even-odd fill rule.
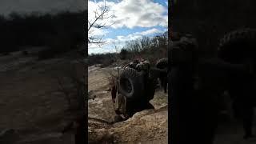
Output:
[[[114,110],[117,114],[116,122],[130,118],[138,111],[154,109],[150,100],[154,98],[158,78],[167,75],[167,63],[164,62],[168,61],[164,59],[159,60],[154,67],[150,67],[150,62],[143,58],[138,58],[122,67],[111,90]]]

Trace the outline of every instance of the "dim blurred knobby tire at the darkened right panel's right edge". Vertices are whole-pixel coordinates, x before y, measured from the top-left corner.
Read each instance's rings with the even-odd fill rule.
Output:
[[[226,34],[218,45],[218,57],[227,62],[241,62],[256,54],[256,29],[234,30]]]

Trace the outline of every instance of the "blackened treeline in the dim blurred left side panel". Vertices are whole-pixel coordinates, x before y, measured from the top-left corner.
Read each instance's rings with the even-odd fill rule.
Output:
[[[70,50],[85,42],[85,11],[0,15],[0,53],[23,46]]]

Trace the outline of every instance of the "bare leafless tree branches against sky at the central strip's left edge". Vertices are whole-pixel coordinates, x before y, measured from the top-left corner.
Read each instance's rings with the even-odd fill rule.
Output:
[[[94,19],[88,20],[88,43],[98,44],[102,46],[105,41],[102,37],[93,36],[93,29],[106,29],[113,25],[114,23],[106,22],[107,19],[113,18],[113,15],[110,14],[110,7],[106,6],[106,1],[104,1],[103,6],[98,5],[98,9],[94,10]]]

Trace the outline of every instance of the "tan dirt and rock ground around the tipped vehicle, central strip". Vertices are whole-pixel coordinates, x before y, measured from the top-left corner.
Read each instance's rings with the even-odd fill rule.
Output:
[[[114,67],[88,68],[88,129],[91,143],[167,143],[168,141],[168,107],[167,94],[157,90],[150,102],[155,110],[143,110],[134,114],[125,122],[114,125],[114,106],[110,94],[110,71]],[[94,99],[93,99],[94,98]],[[99,122],[94,118],[104,120]]]

